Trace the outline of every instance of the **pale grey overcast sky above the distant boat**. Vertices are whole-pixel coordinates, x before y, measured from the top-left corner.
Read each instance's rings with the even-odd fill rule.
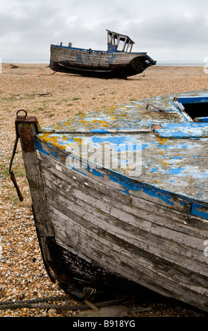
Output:
[[[48,60],[50,44],[107,49],[106,29],[161,61],[208,56],[207,0],[0,0],[0,58]]]

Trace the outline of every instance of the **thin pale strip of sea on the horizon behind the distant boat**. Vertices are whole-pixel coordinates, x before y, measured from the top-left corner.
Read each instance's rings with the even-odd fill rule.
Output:
[[[39,64],[49,64],[49,59],[17,59],[17,58],[0,58],[1,63],[27,63],[27,64],[33,64],[33,63],[39,63]],[[207,63],[204,63],[204,61],[157,61],[157,65],[166,65],[166,66],[199,66],[203,67]]]

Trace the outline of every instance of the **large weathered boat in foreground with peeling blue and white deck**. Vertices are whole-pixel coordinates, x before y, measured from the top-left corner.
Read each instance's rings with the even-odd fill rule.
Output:
[[[142,286],[208,311],[207,106],[208,90],[158,96],[41,129],[18,112],[43,261],[66,293]]]

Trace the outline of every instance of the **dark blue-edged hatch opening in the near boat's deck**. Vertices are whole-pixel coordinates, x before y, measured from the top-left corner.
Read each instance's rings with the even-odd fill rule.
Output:
[[[183,113],[186,113],[195,122],[208,122],[208,98],[192,97],[178,98]]]

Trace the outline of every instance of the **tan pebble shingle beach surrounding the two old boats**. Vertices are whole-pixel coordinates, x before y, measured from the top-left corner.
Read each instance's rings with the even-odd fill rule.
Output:
[[[20,203],[8,176],[8,165],[15,141],[16,112],[25,109],[41,126],[65,120],[78,113],[126,104],[161,94],[204,89],[207,76],[201,67],[151,67],[128,80],[99,80],[64,73],[53,73],[48,65],[3,63],[0,75],[0,303],[63,295],[49,280],[42,262],[31,211],[31,197],[20,146],[13,171],[24,201]],[[41,75],[40,75],[41,74]],[[41,96],[47,94],[47,96]],[[74,300],[64,300],[69,305]],[[65,303],[66,303],[65,302]],[[61,302],[57,302],[61,306]],[[131,316],[192,316],[193,311],[167,304],[151,304],[152,310]],[[0,306],[1,308],[1,306]],[[0,317],[75,317],[78,311],[61,309],[0,309]],[[195,313],[195,316],[198,316]]]

